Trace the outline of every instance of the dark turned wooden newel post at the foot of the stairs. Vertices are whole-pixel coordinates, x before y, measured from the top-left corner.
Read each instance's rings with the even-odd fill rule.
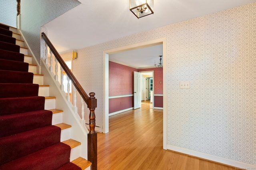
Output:
[[[91,92],[88,99],[87,107],[90,109],[88,133],[88,161],[92,162],[91,170],[97,170],[97,133],[95,132],[95,113],[97,107],[97,99],[95,93]]]

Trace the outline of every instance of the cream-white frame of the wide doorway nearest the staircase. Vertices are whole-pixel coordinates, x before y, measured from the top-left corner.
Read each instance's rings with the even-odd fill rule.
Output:
[[[109,49],[103,51],[103,126],[102,132],[108,133],[109,131],[109,108],[108,108],[108,59],[109,54],[118,53],[122,51],[128,51],[131,49],[150,47],[156,44],[163,44],[163,148],[167,149],[167,83],[166,83],[166,56],[167,56],[167,46],[166,37],[154,39],[151,41],[146,41],[142,43],[136,43],[132,45],[127,45],[124,47],[118,47],[115,49]]]

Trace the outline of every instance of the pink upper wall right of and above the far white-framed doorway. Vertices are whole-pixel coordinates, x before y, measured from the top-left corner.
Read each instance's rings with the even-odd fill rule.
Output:
[[[163,94],[163,68],[144,68],[138,71],[152,71],[154,70],[154,94]],[[162,83],[160,83],[160,81]]]

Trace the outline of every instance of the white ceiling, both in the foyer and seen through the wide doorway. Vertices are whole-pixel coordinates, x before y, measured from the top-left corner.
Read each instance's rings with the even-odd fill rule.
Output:
[[[137,19],[129,10],[129,0],[79,1],[82,4],[44,25],[48,29],[49,39],[59,53],[256,2],[256,0],[154,0],[154,14]],[[148,52],[151,48],[155,48],[153,51],[157,52]],[[156,45],[148,49],[126,51],[122,55],[129,58],[114,54],[110,56],[110,60],[121,63],[133,61],[134,64],[126,64],[132,64],[131,66],[136,68],[148,67],[149,64],[154,66],[154,61],[157,62],[158,56],[162,55],[161,48],[160,45]]]

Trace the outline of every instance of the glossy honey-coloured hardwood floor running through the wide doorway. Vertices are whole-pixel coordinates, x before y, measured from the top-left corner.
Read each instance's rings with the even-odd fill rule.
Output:
[[[163,111],[143,107],[109,118],[98,133],[98,170],[234,170],[163,149]]]

